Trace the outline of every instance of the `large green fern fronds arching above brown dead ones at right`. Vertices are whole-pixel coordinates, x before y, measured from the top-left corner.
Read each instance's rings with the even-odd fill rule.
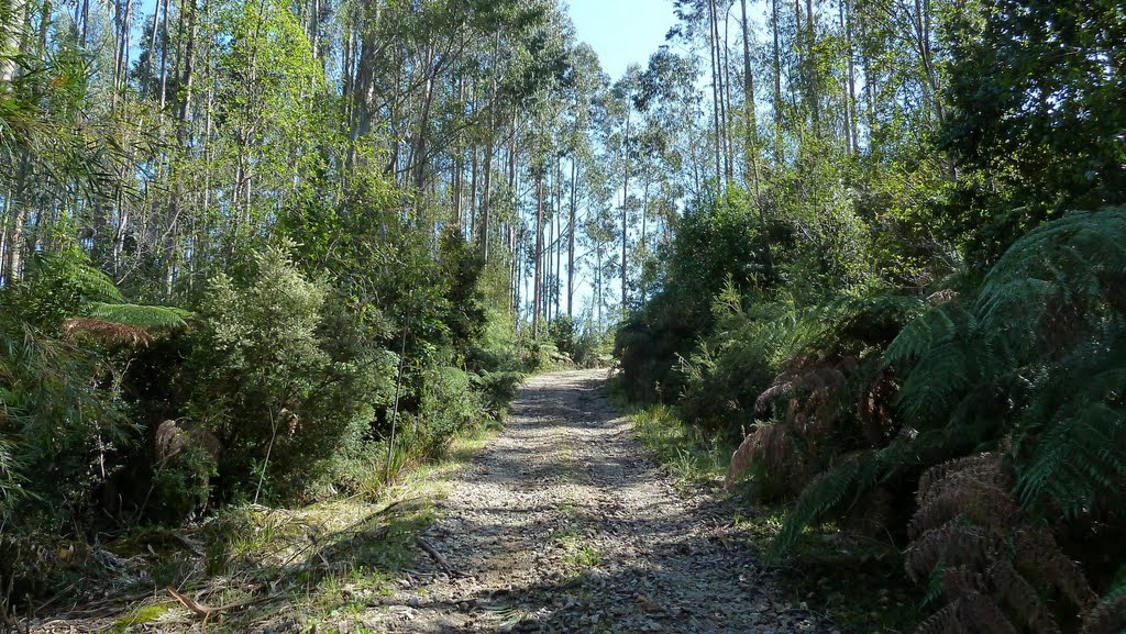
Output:
[[[1126,208],[1028,233],[975,292],[912,320],[882,363],[901,377],[901,434],[814,480],[779,552],[881,482],[982,450],[1001,453],[1028,518],[1126,517]]]

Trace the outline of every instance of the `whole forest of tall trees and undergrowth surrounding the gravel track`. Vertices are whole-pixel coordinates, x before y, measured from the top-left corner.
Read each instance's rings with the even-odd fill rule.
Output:
[[[560,0],[0,0],[0,629],[549,366],[919,632],[1126,629],[1126,6],[652,1],[613,78]]]

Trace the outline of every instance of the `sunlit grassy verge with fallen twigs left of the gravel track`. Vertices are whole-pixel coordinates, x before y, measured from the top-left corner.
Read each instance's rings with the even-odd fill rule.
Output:
[[[436,504],[498,430],[465,430],[440,458],[400,464],[390,482],[351,495],[295,509],[244,504],[181,530],[133,532],[100,555],[129,591],[73,609],[62,599],[29,631],[363,632],[368,610],[417,583]]]

